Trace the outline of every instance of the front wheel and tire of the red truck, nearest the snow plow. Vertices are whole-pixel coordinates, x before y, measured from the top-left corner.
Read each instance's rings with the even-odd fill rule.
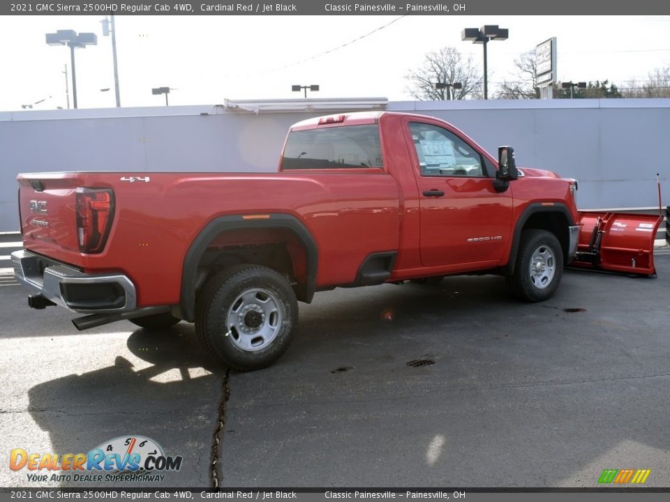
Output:
[[[563,249],[554,234],[546,230],[526,230],[516,255],[509,285],[523,301],[540,302],[553,296],[563,276]]]

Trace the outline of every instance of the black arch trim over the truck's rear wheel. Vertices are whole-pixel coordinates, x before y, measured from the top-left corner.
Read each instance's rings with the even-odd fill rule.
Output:
[[[189,322],[195,319],[195,283],[198,276],[198,264],[207,246],[214,237],[222,231],[240,229],[288,229],[304,245],[307,254],[307,282],[299,299],[310,303],[314,296],[316,286],[316,273],[318,268],[318,248],[312,234],[305,225],[293,215],[282,213],[271,213],[269,218],[245,220],[242,215],[219,216],[211,220],[195,237],[193,243],[184,257],[184,266],[181,271],[181,301],[179,304],[179,317]]]

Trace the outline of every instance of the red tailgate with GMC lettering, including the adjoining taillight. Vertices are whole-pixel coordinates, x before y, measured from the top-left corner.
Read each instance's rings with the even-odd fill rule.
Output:
[[[78,173],[20,174],[24,246],[57,259],[103,250],[114,217],[110,188],[83,188]]]

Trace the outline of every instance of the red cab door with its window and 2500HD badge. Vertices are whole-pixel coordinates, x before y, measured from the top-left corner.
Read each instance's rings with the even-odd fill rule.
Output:
[[[498,264],[512,232],[512,187],[496,192],[491,158],[447,123],[405,117],[403,125],[419,191],[422,265]]]

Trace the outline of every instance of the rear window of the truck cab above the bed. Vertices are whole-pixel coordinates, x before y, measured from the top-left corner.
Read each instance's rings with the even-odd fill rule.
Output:
[[[281,169],[382,169],[379,126],[336,126],[291,131]]]

